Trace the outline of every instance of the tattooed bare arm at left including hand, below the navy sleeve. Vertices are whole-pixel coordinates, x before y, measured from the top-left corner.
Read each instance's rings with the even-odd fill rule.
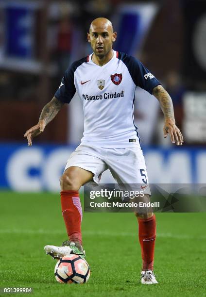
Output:
[[[27,130],[24,134],[24,137],[28,140],[29,146],[32,145],[32,139],[44,131],[46,125],[58,114],[63,105],[63,102],[53,97],[53,99],[43,107],[38,124]]]

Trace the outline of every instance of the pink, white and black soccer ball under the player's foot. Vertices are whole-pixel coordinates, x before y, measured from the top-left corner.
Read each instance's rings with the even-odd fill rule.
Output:
[[[85,283],[90,276],[90,268],[86,260],[78,255],[67,255],[56,263],[54,275],[61,283]]]

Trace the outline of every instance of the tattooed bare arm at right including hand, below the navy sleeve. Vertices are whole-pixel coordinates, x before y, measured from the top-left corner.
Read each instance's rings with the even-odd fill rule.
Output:
[[[161,84],[154,87],[153,95],[156,97],[156,99],[158,99],[161,110],[165,117],[165,124],[163,128],[164,137],[167,137],[167,135],[170,134],[172,143],[175,143],[178,146],[182,145],[183,136],[175,125],[174,110],[170,95],[167,91],[165,91]]]

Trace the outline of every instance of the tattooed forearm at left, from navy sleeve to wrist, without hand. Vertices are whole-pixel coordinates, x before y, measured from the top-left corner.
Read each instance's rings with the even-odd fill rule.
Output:
[[[63,105],[63,102],[53,97],[42,109],[39,120],[44,120],[47,125],[58,114]]]

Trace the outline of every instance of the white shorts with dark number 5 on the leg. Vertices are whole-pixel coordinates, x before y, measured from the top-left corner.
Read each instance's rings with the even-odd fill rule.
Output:
[[[91,171],[97,185],[102,173],[109,169],[119,184],[127,184],[136,190],[144,189],[144,194],[151,195],[141,148],[97,148],[79,145],[70,155],[65,170],[71,166]]]

